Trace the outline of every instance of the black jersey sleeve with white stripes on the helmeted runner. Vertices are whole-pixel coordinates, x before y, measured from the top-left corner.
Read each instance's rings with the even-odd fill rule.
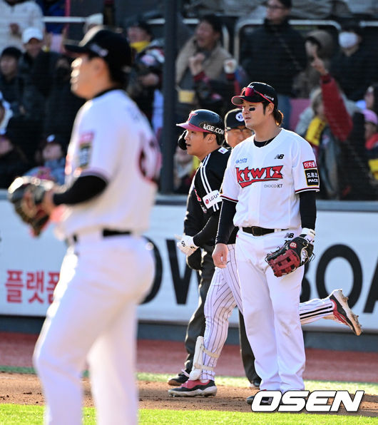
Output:
[[[194,176],[194,190],[205,214],[213,215],[220,211],[220,185],[230,157],[230,150],[219,148],[209,153],[200,163]]]

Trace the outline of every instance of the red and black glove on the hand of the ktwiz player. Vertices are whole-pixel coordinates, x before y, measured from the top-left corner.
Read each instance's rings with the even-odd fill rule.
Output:
[[[289,240],[277,251],[268,254],[265,261],[272,267],[276,277],[288,275],[312,258],[314,245],[300,235]]]

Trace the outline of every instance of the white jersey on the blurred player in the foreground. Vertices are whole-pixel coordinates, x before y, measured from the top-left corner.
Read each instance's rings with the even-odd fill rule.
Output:
[[[122,90],[107,91],[78,111],[66,158],[66,184],[96,175],[103,192],[66,205],[58,237],[101,228],[144,232],[155,199],[160,150],[147,118]]]

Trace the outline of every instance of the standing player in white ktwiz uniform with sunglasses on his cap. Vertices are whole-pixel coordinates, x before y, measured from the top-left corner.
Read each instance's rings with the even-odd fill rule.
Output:
[[[311,257],[315,240],[317,165],[310,144],[280,128],[274,88],[250,83],[233,103],[242,107],[245,125],[255,135],[233,150],[225,171],[214,264],[226,267],[228,238],[233,226],[239,227],[235,257],[260,389],[302,390],[305,346],[298,309],[305,268],[299,266]],[[285,257],[290,270],[278,272],[267,255],[287,241],[287,252],[298,250],[299,258],[295,264],[294,254]]]

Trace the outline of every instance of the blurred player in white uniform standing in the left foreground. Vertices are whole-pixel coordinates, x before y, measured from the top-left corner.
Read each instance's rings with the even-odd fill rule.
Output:
[[[68,241],[34,351],[46,424],[81,424],[88,364],[98,424],[137,424],[136,306],[153,282],[148,228],[160,152],[147,119],[121,89],[131,48],[95,27],[78,46],[71,88],[86,98],[73,127],[66,185],[42,205]]]

